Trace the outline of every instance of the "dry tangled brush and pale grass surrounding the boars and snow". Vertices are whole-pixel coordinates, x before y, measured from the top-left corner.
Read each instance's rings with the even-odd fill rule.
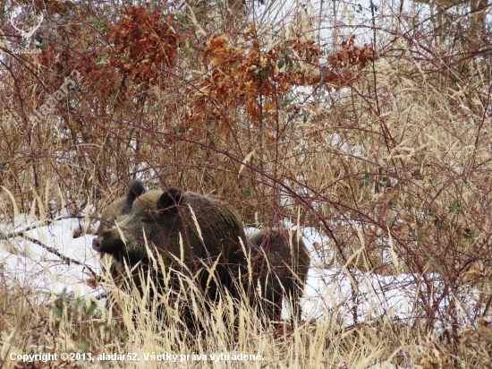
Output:
[[[318,228],[330,242],[317,251],[335,251],[318,267],[428,283],[418,319],[355,313],[349,327],[334,317],[272,332],[249,317],[239,344],[217,328],[216,347],[196,339],[190,352],[260,351],[272,367],[490,367],[488,4],[229,5],[4,3],[0,185],[44,219],[100,211],[135,177],[212,193],[247,225]],[[29,46],[13,12],[25,28],[44,14]],[[92,353],[171,352],[181,339],[64,300],[64,312],[79,304],[72,322],[2,283],[2,360],[36,347],[29,332]],[[479,293],[464,320],[462,288]]]

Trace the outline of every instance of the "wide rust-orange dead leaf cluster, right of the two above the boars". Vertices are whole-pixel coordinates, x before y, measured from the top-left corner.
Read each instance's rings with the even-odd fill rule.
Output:
[[[233,42],[225,32],[208,41],[202,59],[208,74],[190,105],[189,120],[203,120],[209,114],[220,119],[225,111],[241,105],[252,122],[270,121],[279,99],[294,87],[340,89],[355,82],[375,57],[371,47],[355,46],[354,37],[329,53],[325,63],[321,47],[313,40],[288,39],[264,49],[254,23],[242,39]]]

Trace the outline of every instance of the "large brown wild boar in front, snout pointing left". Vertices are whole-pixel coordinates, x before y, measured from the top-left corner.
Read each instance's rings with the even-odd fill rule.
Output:
[[[122,218],[119,227],[125,242],[118,228],[112,227],[94,239],[95,250],[113,255],[130,268],[139,263],[148,269],[147,239],[150,252],[156,259],[157,254],[162,257],[165,268],[199,273],[200,287],[210,298],[216,298],[219,287],[239,296],[234,276],[242,264],[240,239],[245,243],[246,237],[242,219],[233,207],[215,198],[171,188],[140,195],[132,202],[129,214]],[[181,258],[184,269],[178,262]],[[209,280],[207,270],[215,263],[215,278]]]

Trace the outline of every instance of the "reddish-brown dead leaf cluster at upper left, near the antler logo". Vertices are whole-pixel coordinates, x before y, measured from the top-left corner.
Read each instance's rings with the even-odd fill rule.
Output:
[[[95,28],[104,35],[102,23],[98,21]],[[166,72],[176,64],[180,41],[175,23],[171,14],[163,17],[149,12],[147,6],[131,6],[122,12],[119,21],[105,25],[104,45],[94,44],[89,32],[73,23],[67,30],[79,42],[63,50],[59,43],[50,42],[43,47],[38,62],[61,76],[54,89],[64,82],[64,76],[77,70],[92,98],[108,101],[118,97],[125,103],[139,93],[135,89],[142,85],[160,89],[168,85]]]

